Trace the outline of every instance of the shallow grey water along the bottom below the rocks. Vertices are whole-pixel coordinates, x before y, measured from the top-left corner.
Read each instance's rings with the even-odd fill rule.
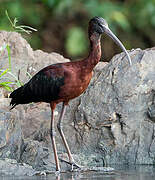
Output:
[[[155,180],[155,166],[111,166],[113,172],[73,172],[33,177],[1,177],[2,180]]]

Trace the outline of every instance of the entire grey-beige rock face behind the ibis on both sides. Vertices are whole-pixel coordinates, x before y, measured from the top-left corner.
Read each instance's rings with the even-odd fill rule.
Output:
[[[19,74],[20,69],[23,82],[28,80],[26,72],[33,75],[49,64],[69,61],[56,53],[33,51],[18,33],[0,32],[1,42],[10,45],[13,73]],[[129,54],[132,66],[124,53],[114,56],[110,63],[100,62],[86,92],[70,101],[63,129],[81,165],[155,162],[155,49],[136,49]],[[0,68],[7,68],[7,63],[4,51]],[[56,108],[55,124],[60,111],[61,104]],[[9,111],[9,99],[0,90],[0,157],[54,170],[50,118],[46,103],[19,105]],[[65,157],[56,133],[58,153]],[[63,163],[62,168],[66,168]]]

